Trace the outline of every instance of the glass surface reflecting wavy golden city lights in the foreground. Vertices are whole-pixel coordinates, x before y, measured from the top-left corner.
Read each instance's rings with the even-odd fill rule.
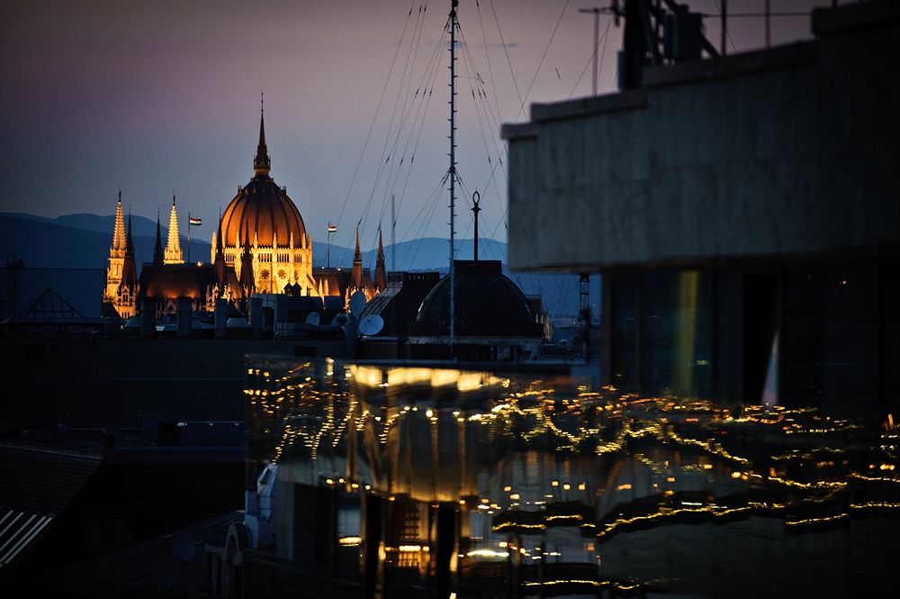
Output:
[[[592,391],[564,372],[258,358],[259,549],[383,597],[865,594],[900,445],[813,410]],[[271,468],[271,467],[270,467]]]

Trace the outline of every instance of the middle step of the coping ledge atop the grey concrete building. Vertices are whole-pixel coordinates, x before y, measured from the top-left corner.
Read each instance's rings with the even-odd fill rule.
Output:
[[[800,41],[766,50],[732,54],[716,59],[692,60],[644,70],[644,86],[662,87],[738,77],[749,73],[791,68],[818,59],[817,41]]]

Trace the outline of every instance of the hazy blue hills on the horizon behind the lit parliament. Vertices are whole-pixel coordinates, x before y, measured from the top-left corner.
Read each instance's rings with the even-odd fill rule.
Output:
[[[46,218],[26,213],[0,213],[0,252],[4,257],[15,254],[23,259],[25,267],[31,268],[105,268],[112,243],[112,228],[115,216],[97,214],[67,214],[57,218]],[[157,223],[143,216],[131,217],[134,234],[134,251],[138,263],[153,259]],[[168,229],[161,228],[163,243],[166,243]],[[187,259],[187,237],[181,236],[184,259]],[[211,245],[209,241],[191,241],[191,259],[208,262]],[[437,237],[426,237],[415,241],[402,241],[392,254],[390,244],[384,246],[385,264],[390,271],[392,261],[399,270],[440,270],[447,269],[447,241]],[[363,252],[365,268],[374,268],[376,250]],[[328,244],[312,242],[314,265],[325,266]],[[527,295],[541,295],[545,306],[553,316],[574,314],[578,311],[578,277],[575,275],[521,274],[511,273],[505,267],[507,245],[490,239],[479,240],[479,257],[499,259],[504,262],[504,272],[511,277]],[[459,241],[456,257],[472,259],[473,240]],[[353,250],[332,245],[331,266],[349,268],[353,263]]]

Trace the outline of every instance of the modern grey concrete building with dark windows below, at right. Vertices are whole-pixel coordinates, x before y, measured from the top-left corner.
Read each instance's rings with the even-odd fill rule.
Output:
[[[812,30],[503,126],[509,265],[604,274],[608,383],[900,407],[900,4]]]

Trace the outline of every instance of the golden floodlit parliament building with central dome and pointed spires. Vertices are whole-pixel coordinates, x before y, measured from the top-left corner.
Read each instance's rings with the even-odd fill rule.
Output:
[[[387,273],[380,236],[374,277],[363,268],[358,230],[352,269],[313,268],[312,240],[303,217],[286,188],[270,177],[270,168],[260,111],[254,176],[238,187],[238,194],[220,215],[218,230],[212,233],[211,264],[184,263],[173,196],[166,247],[157,217],[153,261],[138,273],[130,217],[126,231],[120,194],[103,292],[104,313],[114,315],[114,311],[130,318],[139,313],[145,297],[156,299],[157,314],[162,315],[174,314],[178,298],[184,297],[192,300],[194,312],[212,312],[219,298],[240,304],[254,294],[343,296],[347,303],[356,291],[364,292],[366,300],[383,291]]]

